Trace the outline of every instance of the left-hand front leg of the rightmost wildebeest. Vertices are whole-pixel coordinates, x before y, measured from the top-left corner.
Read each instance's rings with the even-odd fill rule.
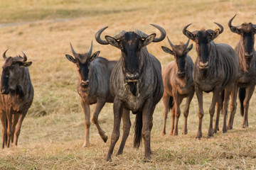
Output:
[[[233,129],[233,120],[235,118],[235,111],[237,108],[236,98],[238,96],[238,86],[235,85],[233,91],[231,91],[231,103],[230,103],[230,118],[228,120],[228,130]]]

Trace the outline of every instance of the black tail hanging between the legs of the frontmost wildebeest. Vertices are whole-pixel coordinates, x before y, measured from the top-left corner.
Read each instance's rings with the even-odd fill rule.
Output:
[[[139,148],[142,141],[142,111],[136,113],[134,123],[134,147]]]

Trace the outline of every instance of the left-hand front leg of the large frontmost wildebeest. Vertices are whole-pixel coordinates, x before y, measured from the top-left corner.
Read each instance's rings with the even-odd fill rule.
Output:
[[[110,149],[107,153],[107,161],[111,161],[111,155],[113,154],[114,145],[116,145],[117,140],[119,139],[120,135],[120,122],[122,118],[122,102],[119,101],[119,99],[114,98],[114,128],[111,135],[111,141],[110,141]]]

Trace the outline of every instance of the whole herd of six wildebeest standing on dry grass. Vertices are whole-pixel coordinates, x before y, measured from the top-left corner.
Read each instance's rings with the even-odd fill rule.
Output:
[[[107,142],[105,131],[100,128],[98,115],[105,103],[113,103],[114,127],[110,141],[110,149],[107,153],[107,161],[111,160],[114,146],[119,140],[119,128],[123,120],[122,142],[117,154],[122,154],[125,142],[129,136],[131,121],[130,111],[136,115],[134,123],[134,147],[139,147],[144,141],[144,154],[146,159],[151,159],[151,129],[153,127],[153,113],[156,104],[163,98],[164,123],[162,134],[166,134],[166,118],[171,110],[171,135],[178,135],[178,118],[181,115],[181,102],[186,98],[186,106],[183,109],[185,117],[183,135],[188,133],[188,110],[194,93],[198,99],[198,133],[196,138],[202,137],[201,125],[203,120],[203,92],[213,92],[210,104],[210,126],[208,136],[219,130],[220,111],[224,115],[223,133],[233,128],[233,120],[237,108],[237,94],[240,98],[241,114],[243,115],[242,128],[248,127],[248,108],[256,84],[256,53],[254,50],[254,35],[256,25],[242,23],[241,26],[233,26],[230,19],[228,26],[233,33],[240,35],[240,41],[235,49],[230,45],[213,42],[223,33],[223,26],[215,23],[215,30],[188,30],[185,26],[184,35],[188,41],[184,44],[162,47],[164,52],[174,55],[174,61],[170,62],[164,72],[161,72],[161,63],[146,49],[151,42],[160,42],[166,38],[166,31],[160,26],[151,24],[157,28],[161,35],[155,33],[147,35],[141,30],[127,32],[122,30],[117,35],[105,35],[102,33],[107,27],[95,34],[95,39],[101,45],[112,45],[121,50],[118,61],[110,61],[99,57],[100,51],[92,53],[92,43],[88,52],[77,53],[70,43],[73,56],[65,55],[70,62],[78,68],[79,81],[78,94],[81,97],[82,108],[85,113],[85,142],[82,147],[90,144],[90,105],[96,103],[92,114],[92,123],[104,142]],[[196,62],[193,63],[188,52],[193,45],[189,40],[196,42]],[[7,50],[6,50],[7,51]],[[28,72],[28,66],[32,62],[26,62],[27,57],[6,57],[1,74],[0,116],[3,132],[3,143],[7,147],[10,142],[17,145],[21,131],[23,118],[33,101],[33,86]],[[238,92],[239,91],[239,92]],[[228,117],[228,101],[230,102],[230,117]],[[213,127],[213,115],[216,108],[215,127]],[[14,138],[15,137],[15,138]]]

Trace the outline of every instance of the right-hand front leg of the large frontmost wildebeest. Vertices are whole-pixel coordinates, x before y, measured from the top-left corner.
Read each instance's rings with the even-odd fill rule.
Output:
[[[146,159],[151,159],[151,149],[150,149],[150,122],[151,122],[151,117],[153,106],[153,98],[148,98],[146,100],[146,103],[143,106],[142,110],[142,138],[144,140],[144,149],[145,149],[145,158]]]

